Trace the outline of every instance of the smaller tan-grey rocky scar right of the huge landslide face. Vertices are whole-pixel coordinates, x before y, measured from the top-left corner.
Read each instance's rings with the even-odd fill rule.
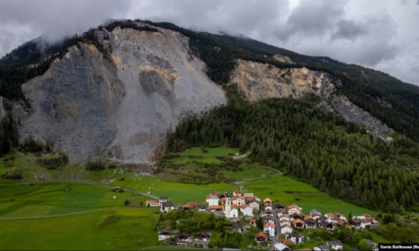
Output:
[[[292,63],[284,56],[275,59]],[[338,96],[335,86],[341,84],[336,77],[328,73],[319,73],[307,68],[280,69],[269,64],[237,60],[235,71],[231,74],[231,82],[238,84],[251,101],[264,98],[302,98],[308,93],[315,93],[321,98],[321,105],[331,112],[341,114],[348,121],[361,123],[373,135],[386,142],[392,141],[384,132],[392,132],[385,124],[371,114],[354,105],[346,96]]]

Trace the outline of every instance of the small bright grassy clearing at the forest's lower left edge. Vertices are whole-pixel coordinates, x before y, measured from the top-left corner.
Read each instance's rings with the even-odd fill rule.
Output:
[[[171,161],[176,162],[176,163],[186,163],[186,162],[196,161],[196,162],[203,162],[203,163],[219,164],[223,161],[215,158],[216,156],[236,155],[236,153],[240,155],[239,149],[235,149],[235,148],[231,148],[227,146],[207,148],[207,151],[208,151],[207,153],[203,153],[200,147],[191,147],[190,149],[186,149],[185,151],[182,151],[182,153],[180,153],[182,157],[173,158]]]

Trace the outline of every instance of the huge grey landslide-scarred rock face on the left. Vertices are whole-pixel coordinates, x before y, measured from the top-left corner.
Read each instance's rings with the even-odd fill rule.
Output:
[[[20,137],[54,144],[72,163],[103,152],[122,162],[147,162],[182,116],[226,102],[174,31],[97,31],[110,56],[94,45],[71,47],[50,69],[22,86],[31,104],[16,103]]]

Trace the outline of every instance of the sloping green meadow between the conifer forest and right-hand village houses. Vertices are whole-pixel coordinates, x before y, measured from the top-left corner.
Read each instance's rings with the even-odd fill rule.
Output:
[[[352,215],[362,215],[363,213],[376,215],[377,213],[331,197],[307,183],[295,181],[286,176],[249,181],[242,185],[244,185],[244,190],[255,193],[261,199],[270,197],[270,199],[277,200],[287,206],[295,203],[302,208],[303,213],[309,213],[313,208],[320,210],[322,214],[339,212],[346,217],[350,211],[352,211]],[[300,199],[296,200],[295,198]]]

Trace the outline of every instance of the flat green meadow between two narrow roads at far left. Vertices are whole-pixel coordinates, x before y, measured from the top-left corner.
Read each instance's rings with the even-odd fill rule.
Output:
[[[65,192],[68,189],[69,192]],[[117,196],[117,199],[112,197]],[[139,195],[138,195],[139,196]],[[60,215],[124,206],[128,192],[78,183],[0,186],[0,219]],[[145,197],[142,197],[145,200]]]

